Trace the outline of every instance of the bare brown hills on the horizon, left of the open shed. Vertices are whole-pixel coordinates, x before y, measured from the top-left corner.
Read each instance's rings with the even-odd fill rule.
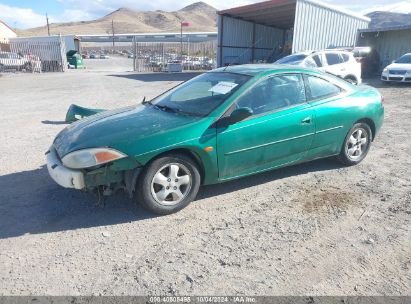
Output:
[[[111,34],[112,20],[116,34],[179,32],[180,21],[192,23],[190,27],[184,28],[184,31],[214,32],[217,31],[216,11],[214,7],[204,2],[196,2],[174,12],[135,11],[120,8],[96,20],[51,23],[50,33],[52,35]],[[17,33],[19,36],[45,36],[47,35],[47,27],[17,30]]]

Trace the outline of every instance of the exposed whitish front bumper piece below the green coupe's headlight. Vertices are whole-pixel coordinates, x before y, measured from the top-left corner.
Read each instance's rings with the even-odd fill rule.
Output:
[[[49,174],[57,184],[64,188],[85,188],[83,172],[65,167],[53,147],[47,151],[46,158]]]

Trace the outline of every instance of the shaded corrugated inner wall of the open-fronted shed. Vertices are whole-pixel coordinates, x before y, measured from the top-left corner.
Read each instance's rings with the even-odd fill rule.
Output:
[[[284,39],[284,31],[218,16],[218,66],[266,60]]]

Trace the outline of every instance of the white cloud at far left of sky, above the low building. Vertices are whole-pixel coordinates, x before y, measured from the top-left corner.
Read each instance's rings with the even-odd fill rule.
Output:
[[[0,4],[0,19],[11,27],[28,28],[46,24],[46,16],[30,8],[19,8]]]

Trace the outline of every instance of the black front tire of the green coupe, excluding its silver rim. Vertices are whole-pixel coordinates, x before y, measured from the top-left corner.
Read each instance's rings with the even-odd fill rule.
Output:
[[[167,206],[158,203],[151,194],[151,182],[157,171],[170,163],[180,163],[184,165],[191,174],[192,184],[188,195],[178,204]],[[177,212],[190,204],[197,196],[201,184],[201,177],[197,164],[190,158],[183,154],[172,154],[157,158],[151,161],[143,169],[136,187],[137,201],[147,210],[158,214],[167,215]]]

